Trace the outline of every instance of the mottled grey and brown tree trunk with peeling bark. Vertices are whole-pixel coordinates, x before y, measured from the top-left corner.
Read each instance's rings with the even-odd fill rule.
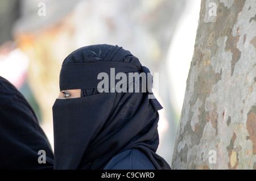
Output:
[[[202,0],[172,169],[256,169],[255,12]]]

